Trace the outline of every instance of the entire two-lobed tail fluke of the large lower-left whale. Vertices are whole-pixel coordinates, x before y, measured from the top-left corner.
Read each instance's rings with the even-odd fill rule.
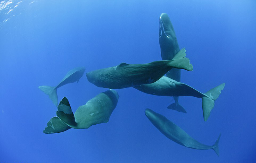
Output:
[[[53,117],[47,123],[47,127],[43,131],[45,134],[63,132],[76,126],[74,114],[66,97],[60,101],[56,114],[58,117]]]

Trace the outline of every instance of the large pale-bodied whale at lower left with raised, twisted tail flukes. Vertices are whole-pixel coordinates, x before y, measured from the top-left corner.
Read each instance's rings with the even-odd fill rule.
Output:
[[[59,133],[71,128],[88,129],[94,124],[107,123],[118,99],[119,95],[115,90],[108,90],[78,107],[73,114],[68,99],[64,97],[58,106],[58,117],[53,117],[47,123],[44,133]]]

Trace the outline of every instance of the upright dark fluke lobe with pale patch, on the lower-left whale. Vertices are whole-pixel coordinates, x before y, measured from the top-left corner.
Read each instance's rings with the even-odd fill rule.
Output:
[[[68,99],[64,97],[58,106],[57,116],[67,125],[75,126],[75,116],[72,112]]]

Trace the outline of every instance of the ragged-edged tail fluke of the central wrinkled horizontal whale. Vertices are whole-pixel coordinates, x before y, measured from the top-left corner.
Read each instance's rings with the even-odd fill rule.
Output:
[[[185,69],[188,71],[193,71],[193,65],[189,63],[189,59],[186,56],[185,48],[182,48],[173,58],[169,60],[169,65],[178,69]]]

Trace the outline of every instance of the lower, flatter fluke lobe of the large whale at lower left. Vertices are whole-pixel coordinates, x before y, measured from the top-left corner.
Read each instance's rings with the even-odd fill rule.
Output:
[[[54,134],[66,131],[71,129],[68,125],[66,125],[59,117],[53,117],[48,123],[47,127],[44,129],[45,134]]]

